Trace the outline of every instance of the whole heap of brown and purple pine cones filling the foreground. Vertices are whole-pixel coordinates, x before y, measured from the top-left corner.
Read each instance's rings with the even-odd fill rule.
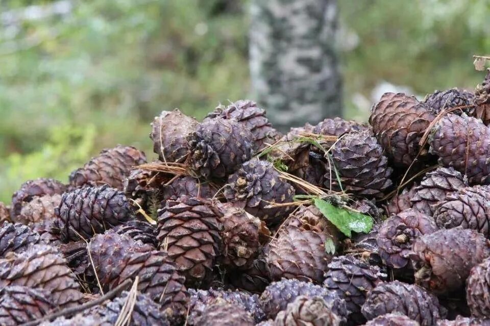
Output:
[[[0,203],[0,324],[490,325],[490,71],[369,122],[164,111],[157,161],[119,145],[27,181]]]

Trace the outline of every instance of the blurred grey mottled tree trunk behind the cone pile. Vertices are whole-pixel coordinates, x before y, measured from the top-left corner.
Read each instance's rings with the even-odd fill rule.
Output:
[[[341,116],[336,0],[252,0],[252,88],[280,130]]]

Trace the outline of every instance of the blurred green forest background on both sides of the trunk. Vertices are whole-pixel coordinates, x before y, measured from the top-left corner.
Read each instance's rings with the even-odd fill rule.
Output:
[[[347,118],[380,92],[474,89],[490,54],[490,0],[341,0]],[[104,147],[153,158],[150,122],[202,118],[250,96],[247,1],[0,2],[0,201],[28,179],[69,172]],[[316,121],[312,121],[316,122]]]

